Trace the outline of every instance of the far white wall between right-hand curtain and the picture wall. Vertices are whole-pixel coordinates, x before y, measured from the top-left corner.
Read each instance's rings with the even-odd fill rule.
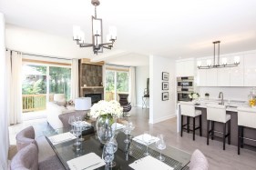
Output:
[[[137,66],[135,70],[135,75],[136,75],[137,106],[141,107],[142,96],[144,95],[144,89],[147,88],[147,78],[149,78],[149,66],[148,65]],[[149,101],[147,105],[149,106]]]

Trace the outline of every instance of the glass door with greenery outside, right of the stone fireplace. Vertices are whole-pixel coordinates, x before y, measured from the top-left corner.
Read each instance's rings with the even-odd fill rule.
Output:
[[[128,71],[106,70],[105,100],[119,101],[118,94],[128,94]]]

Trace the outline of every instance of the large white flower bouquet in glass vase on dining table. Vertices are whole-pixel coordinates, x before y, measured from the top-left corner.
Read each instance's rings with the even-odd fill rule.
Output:
[[[123,114],[123,107],[116,101],[105,101],[100,100],[97,104],[94,104],[91,109],[89,115],[93,118],[97,118],[98,115],[116,115],[120,116]]]

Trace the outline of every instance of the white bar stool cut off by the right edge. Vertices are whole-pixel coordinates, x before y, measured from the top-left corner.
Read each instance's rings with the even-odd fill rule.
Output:
[[[238,155],[243,147],[243,129],[250,127],[256,129],[256,109],[250,107],[238,107]]]

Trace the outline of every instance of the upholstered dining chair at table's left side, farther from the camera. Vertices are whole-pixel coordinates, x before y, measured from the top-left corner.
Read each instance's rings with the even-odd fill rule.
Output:
[[[16,135],[16,147],[17,151],[24,148],[26,145],[31,143],[35,144],[37,149],[38,145],[35,140],[35,130],[33,126],[28,126]]]

